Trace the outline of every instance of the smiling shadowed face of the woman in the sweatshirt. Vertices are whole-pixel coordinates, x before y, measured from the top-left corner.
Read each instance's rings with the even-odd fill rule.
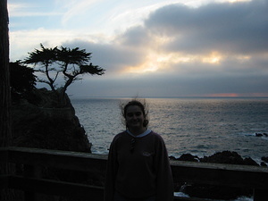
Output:
[[[126,111],[126,123],[130,130],[143,130],[144,114],[138,105],[130,105]]]

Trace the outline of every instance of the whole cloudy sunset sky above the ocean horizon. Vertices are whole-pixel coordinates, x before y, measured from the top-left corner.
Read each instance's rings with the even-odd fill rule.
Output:
[[[267,0],[9,0],[10,61],[86,49],[69,96],[268,96]],[[41,85],[38,85],[42,87]]]

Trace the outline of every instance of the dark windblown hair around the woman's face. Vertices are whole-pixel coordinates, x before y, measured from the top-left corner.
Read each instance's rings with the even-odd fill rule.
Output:
[[[138,106],[141,109],[141,111],[142,111],[142,113],[144,115],[143,126],[147,127],[148,123],[149,123],[149,120],[148,120],[148,110],[147,110],[146,101],[144,100],[143,103],[141,103],[141,101],[138,101],[137,99],[133,99],[130,102],[128,102],[127,104],[121,105],[121,114],[122,114],[122,117],[123,117],[124,124],[125,124],[125,126],[127,128],[128,128],[128,125],[126,124],[125,120],[126,120],[127,110],[129,108],[129,106]]]

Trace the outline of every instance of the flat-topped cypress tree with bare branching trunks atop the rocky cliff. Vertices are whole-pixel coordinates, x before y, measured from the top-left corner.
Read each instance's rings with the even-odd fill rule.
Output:
[[[46,79],[38,78],[39,82],[46,83],[55,91],[57,88],[56,80],[63,76],[64,83],[61,86],[61,93],[65,94],[67,88],[75,80],[81,80],[83,74],[103,75],[105,70],[98,65],[89,63],[91,53],[85,49],[69,48],[61,46],[58,48],[46,48],[40,44],[41,49],[35,49],[29,53],[29,57],[24,63],[34,64],[36,71],[45,75]]]

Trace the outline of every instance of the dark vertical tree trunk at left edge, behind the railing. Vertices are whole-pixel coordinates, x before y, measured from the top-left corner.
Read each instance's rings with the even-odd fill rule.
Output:
[[[9,77],[9,38],[7,0],[0,0],[0,147],[11,145],[11,94]],[[0,164],[0,175],[10,174],[9,163]],[[13,200],[13,191],[0,190],[0,200]]]

